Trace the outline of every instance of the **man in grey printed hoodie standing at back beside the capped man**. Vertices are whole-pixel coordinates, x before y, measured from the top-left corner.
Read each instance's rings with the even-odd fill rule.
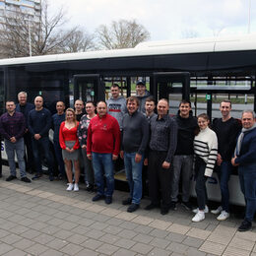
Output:
[[[116,118],[120,130],[122,130],[123,116],[127,113],[126,100],[124,96],[120,96],[120,88],[117,84],[113,84],[110,88],[111,97],[108,99],[108,113]]]

